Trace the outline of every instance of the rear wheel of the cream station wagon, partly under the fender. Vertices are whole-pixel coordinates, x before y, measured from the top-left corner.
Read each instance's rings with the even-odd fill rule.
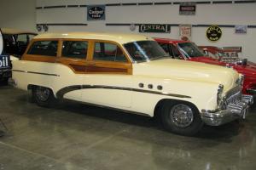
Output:
[[[55,105],[56,99],[50,88],[45,88],[41,86],[34,86],[32,88],[32,99],[39,106],[51,107]]]

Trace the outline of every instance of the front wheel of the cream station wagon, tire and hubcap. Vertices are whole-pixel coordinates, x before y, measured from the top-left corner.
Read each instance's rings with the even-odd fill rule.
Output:
[[[203,122],[195,105],[183,101],[168,101],[163,105],[161,120],[172,133],[192,136],[198,133]]]

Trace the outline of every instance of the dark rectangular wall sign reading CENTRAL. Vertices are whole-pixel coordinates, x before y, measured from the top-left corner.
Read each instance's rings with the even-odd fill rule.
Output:
[[[171,26],[167,24],[141,24],[139,25],[139,32],[170,33]]]

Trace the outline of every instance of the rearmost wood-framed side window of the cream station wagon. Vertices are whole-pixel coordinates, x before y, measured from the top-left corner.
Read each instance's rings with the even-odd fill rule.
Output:
[[[58,41],[38,41],[33,42],[27,54],[56,56],[57,49]]]

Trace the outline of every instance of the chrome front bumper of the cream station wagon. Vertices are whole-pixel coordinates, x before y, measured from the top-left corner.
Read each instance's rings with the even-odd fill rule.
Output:
[[[210,126],[219,126],[236,119],[245,119],[248,114],[249,105],[253,105],[253,96],[241,95],[240,102],[227,105],[225,110],[202,110],[201,119]]]

